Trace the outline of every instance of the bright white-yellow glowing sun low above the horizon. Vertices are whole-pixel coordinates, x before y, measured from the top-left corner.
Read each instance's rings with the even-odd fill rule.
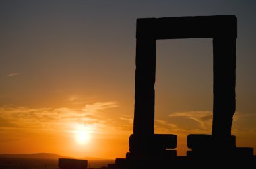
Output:
[[[75,125],[75,130],[73,131],[73,133],[77,144],[88,144],[88,142],[90,142],[90,140],[92,139],[92,129],[84,125]]]

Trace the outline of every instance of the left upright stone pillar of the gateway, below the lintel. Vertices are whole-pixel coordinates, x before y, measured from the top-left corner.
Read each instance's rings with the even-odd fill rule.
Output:
[[[137,38],[133,133],[154,134],[156,39]]]

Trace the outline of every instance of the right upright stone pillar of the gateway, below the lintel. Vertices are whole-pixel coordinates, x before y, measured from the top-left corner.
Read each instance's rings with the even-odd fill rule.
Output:
[[[212,135],[225,141],[231,136],[236,110],[236,38],[213,38],[214,110]],[[226,140],[228,141],[228,140]]]

